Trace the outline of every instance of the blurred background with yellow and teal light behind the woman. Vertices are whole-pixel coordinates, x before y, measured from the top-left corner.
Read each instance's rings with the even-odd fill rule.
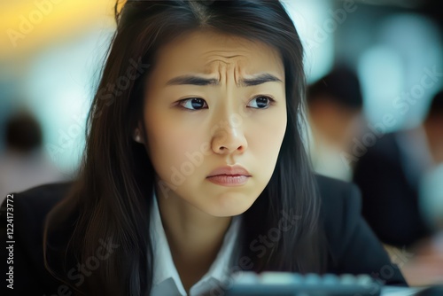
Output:
[[[441,1],[283,2],[306,50],[315,170],[361,187],[363,214],[385,245],[409,248],[432,238],[443,249],[443,113],[441,103],[430,107],[443,87]],[[0,0],[2,200],[69,180],[78,168],[115,29],[113,4]],[[434,252],[426,247],[420,250]]]

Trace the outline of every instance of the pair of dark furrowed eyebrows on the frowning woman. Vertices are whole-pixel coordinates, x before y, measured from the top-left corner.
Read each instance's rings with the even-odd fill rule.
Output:
[[[253,86],[259,85],[265,82],[282,82],[276,76],[272,74],[259,74],[254,78],[240,80],[239,86]],[[167,82],[167,85],[218,85],[219,81],[215,78],[203,78],[194,75],[182,75],[177,76]]]

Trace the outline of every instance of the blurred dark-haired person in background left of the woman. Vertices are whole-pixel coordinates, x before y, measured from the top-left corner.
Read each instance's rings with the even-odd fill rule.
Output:
[[[42,148],[43,132],[34,116],[16,113],[6,121],[5,151],[0,155],[0,199],[41,183],[65,179]]]

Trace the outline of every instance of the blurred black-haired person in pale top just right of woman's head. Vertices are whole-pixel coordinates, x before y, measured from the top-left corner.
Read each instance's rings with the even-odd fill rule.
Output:
[[[346,66],[334,68],[308,88],[310,154],[317,173],[345,181],[352,178],[341,154],[352,145],[362,105],[359,79]]]

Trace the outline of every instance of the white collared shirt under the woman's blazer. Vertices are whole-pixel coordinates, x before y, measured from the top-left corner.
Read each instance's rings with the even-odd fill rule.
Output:
[[[159,214],[159,206],[157,197],[154,193],[152,213],[151,213],[151,238],[154,255],[154,269],[152,282],[152,296],[169,296],[169,295],[188,295],[184,290],[182,280],[178,275],[172,259],[169,245],[167,244],[167,237]],[[190,296],[201,295],[203,292],[208,292],[216,288],[217,284],[226,281],[229,277],[231,254],[237,241],[237,234],[240,229],[241,217],[235,216],[229,225],[229,230],[226,232],[221,245],[221,249],[217,254],[214,262],[209,270],[206,272],[198,282],[190,288]]]

